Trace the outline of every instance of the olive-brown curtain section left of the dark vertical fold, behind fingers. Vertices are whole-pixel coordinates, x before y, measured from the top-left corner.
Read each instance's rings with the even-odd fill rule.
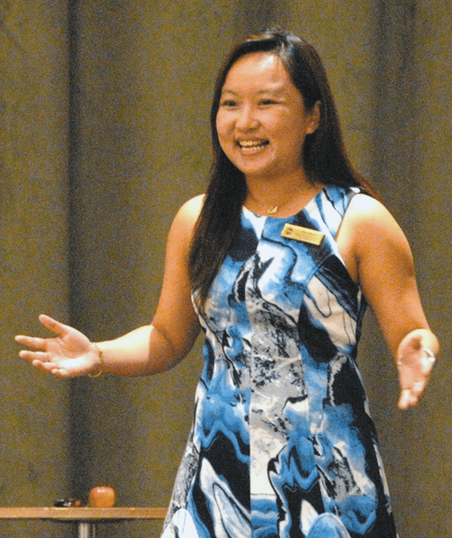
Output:
[[[15,334],[42,312],[68,315],[66,5],[0,3],[0,504],[68,494],[67,384],[17,357]],[[42,331],[41,331],[42,332]],[[0,522],[0,535],[60,536],[49,523]]]

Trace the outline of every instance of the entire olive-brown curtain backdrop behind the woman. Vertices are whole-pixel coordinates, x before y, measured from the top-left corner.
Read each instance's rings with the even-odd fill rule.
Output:
[[[152,318],[171,220],[202,192],[217,69],[243,33],[278,24],[325,61],[351,160],[413,248],[442,343],[422,404],[396,408],[372,314],[360,365],[401,537],[447,536],[451,405],[452,26],[446,0],[0,0],[0,505],[51,505],[110,484],[118,505],[166,506],[192,419],[200,343],[146,379],[56,381],[17,358],[37,316],[113,338]],[[394,314],[396,315],[396,314]],[[160,522],[99,536],[159,535]],[[0,522],[0,536],[74,536]]]

